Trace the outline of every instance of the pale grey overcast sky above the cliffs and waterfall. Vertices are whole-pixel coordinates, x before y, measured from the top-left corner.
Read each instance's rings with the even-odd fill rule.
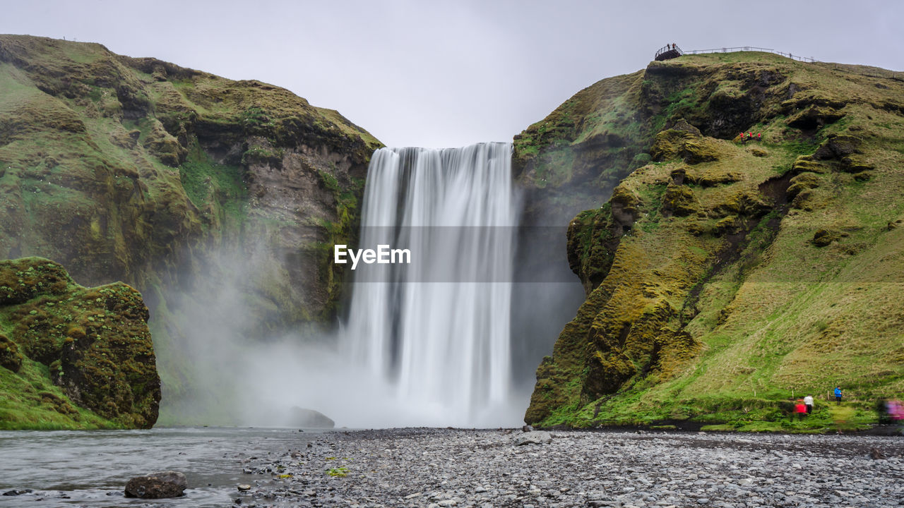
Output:
[[[579,89],[684,50],[904,71],[904,2],[0,0],[0,33],[100,42],[338,109],[389,146],[510,141]]]

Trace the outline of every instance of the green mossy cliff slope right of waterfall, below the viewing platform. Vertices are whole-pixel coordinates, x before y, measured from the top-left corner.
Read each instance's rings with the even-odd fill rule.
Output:
[[[892,303],[904,299],[904,83],[892,77],[764,53],[684,56],[566,103],[633,98],[615,108],[639,134],[597,159],[553,164],[586,150],[570,139],[603,128],[593,114],[569,136],[516,140],[526,175],[564,175],[550,199],[577,164],[605,198],[611,168],[650,161],[570,222],[587,300],[538,368],[525,420],[791,428],[792,393],[841,383],[866,408],[904,389]],[[645,151],[616,150],[628,146]]]

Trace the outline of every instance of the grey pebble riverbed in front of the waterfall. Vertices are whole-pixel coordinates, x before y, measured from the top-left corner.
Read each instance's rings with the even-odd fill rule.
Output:
[[[362,430],[243,468],[243,507],[904,506],[904,437]]]

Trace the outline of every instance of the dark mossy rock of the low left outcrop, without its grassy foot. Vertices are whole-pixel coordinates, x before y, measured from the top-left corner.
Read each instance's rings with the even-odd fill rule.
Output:
[[[19,372],[21,349],[47,366],[66,399],[45,393],[40,401],[57,412],[77,416],[71,401],[121,427],[151,428],[160,378],[141,295],[122,283],[80,287],[48,259],[0,261],[0,277],[11,275],[22,277],[31,297],[0,304],[0,328],[9,331],[0,340],[2,364]],[[2,427],[27,426],[5,421]]]

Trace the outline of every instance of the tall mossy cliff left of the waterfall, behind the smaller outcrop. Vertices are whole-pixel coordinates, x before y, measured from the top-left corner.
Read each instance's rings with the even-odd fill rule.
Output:
[[[0,36],[0,258],[40,255],[146,297],[167,397],[190,390],[178,322],[229,278],[237,336],[328,322],[380,143],[286,89],[94,43]],[[229,259],[226,261],[224,259]],[[231,309],[211,308],[205,314]]]

